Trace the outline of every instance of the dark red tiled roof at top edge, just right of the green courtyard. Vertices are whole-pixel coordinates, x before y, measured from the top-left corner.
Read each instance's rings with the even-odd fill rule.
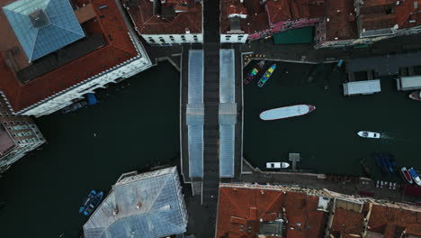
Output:
[[[358,38],[353,0],[325,0],[326,40],[341,41]]]

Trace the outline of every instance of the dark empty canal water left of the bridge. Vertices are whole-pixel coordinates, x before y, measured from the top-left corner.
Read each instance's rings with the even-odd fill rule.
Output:
[[[178,160],[179,91],[179,72],[162,63],[103,90],[98,105],[37,119],[49,143],[0,179],[0,237],[78,237],[91,189]]]

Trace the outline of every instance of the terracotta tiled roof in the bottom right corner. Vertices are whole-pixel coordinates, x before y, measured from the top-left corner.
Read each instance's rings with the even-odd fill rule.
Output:
[[[421,213],[388,206],[372,206],[368,230],[381,233],[383,237],[400,237],[407,234],[421,235]]]

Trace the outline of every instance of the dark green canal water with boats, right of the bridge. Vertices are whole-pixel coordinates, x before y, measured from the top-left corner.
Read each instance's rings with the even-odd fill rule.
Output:
[[[360,176],[359,160],[372,161],[373,152],[388,152],[398,166],[421,169],[421,102],[398,92],[394,78],[381,78],[381,93],[369,96],[343,96],[343,80],[345,72],[334,64],[278,63],[263,88],[245,86],[246,160],[265,168],[266,162],[288,161],[289,152],[299,152],[299,169]],[[317,109],[272,122],[259,118],[264,110],[296,104]],[[380,132],[382,138],[364,139],[358,131]]]

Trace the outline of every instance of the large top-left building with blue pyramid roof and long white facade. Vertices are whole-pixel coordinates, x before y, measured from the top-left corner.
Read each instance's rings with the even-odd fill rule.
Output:
[[[13,114],[51,114],[152,66],[120,1],[16,0],[0,6],[7,20],[0,23],[7,36],[0,40],[0,91]],[[29,18],[15,20],[25,14]],[[28,27],[34,31],[22,31]],[[72,36],[75,29],[80,33]],[[32,35],[38,40],[26,41]]]

